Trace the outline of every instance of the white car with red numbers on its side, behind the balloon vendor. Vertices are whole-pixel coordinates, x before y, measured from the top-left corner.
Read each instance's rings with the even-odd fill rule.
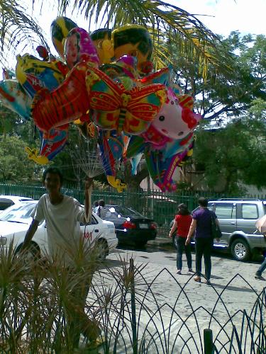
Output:
[[[38,200],[28,200],[12,205],[0,214],[0,246],[9,249],[13,239],[13,248],[18,251],[23,244],[26,232],[33,218],[31,212]],[[80,231],[84,240],[90,246],[97,245],[101,260],[104,260],[109,252],[118,244],[113,222],[108,222],[92,213],[91,224],[80,224]],[[45,256],[48,250],[47,231],[45,221],[42,222],[32,239],[32,250],[40,251]]]

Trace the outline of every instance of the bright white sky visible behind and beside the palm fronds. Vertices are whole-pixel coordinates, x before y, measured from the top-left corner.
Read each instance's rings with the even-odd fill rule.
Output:
[[[43,10],[40,14],[39,0],[35,0],[32,10],[32,0],[22,0],[21,4],[26,4],[28,13],[33,16],[45,33],[52,54],[56,55],[55,49],[50,40],[50,24],[57,17],[57,8],[52,6],[57,1],[44,0]],[[167,2],[167,1],[165,1]],[[189,13],[194,14],[201,22],[214,33],[227,37],[231,31],[238,30],[240,33],[264,34],[266,35],[265,13],[266,0],[168,0]],[[89,23],[81,14],[67,12],[67,17],[88,30]],[[92,25],[90,30],[99,28],[100,25]],[[28,50],[29,51],[29,50]],[[25,51],[24,51],[25,52]],[[24,53],[23,52],[23,53]],[[18,53],[16,53],[18,54]],[[37,52],[33,53],[37,55]],[[15,55],[9,55],[10,64],[16,65]]]

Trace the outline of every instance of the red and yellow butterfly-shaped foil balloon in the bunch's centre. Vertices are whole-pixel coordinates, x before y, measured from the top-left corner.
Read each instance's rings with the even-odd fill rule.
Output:
[[[126,90],[97,68],[87,70],[87,92],[92,120],[103,130],[130,135],[144,132],[167,99],[162,84]]]

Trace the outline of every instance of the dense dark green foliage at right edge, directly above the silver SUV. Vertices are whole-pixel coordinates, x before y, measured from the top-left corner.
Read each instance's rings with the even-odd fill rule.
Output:
[[[239,193],[239,183],[266,186],[265,112],[266,104],[255,101],[244,118],[197,133],[193,159],[210,188],[218,183],[227,193]]]

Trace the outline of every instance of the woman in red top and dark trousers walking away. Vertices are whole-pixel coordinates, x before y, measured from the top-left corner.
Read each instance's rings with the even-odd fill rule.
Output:
[[[169,233],[169,237],[172,237],[172,234],[174,234],[174,232],[177,232],[177,274],[181,274],[183,251],[185,251],[187,256],[187,266],[189,268],[189,272],[193,272],[191,246],[190,243],[187,246],[185,245],[191,223],[192,215],[190,214],[187,205],[179,204],[178,213],[174,217],[174,224]]]

